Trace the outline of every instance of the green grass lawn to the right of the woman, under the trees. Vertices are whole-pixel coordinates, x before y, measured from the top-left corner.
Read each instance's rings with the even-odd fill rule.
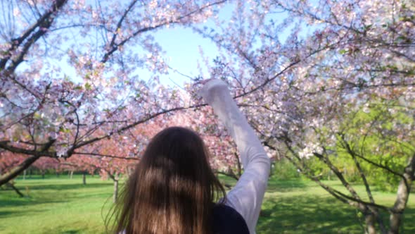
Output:
[[[337,190],[345,189],[337,181],[326,181]],[[364,195],[364,186],[355,189]],[[409,197],[404,214],[404,230],[415,233],[415,194]],[[392,206],[394,193],[374,191],[375,201]],[[314,182],[301,180],[270,181],[262,205],[258,233],[364,233],[357,210],[339,202]],[[388,224],[388,216],[383,217]]]

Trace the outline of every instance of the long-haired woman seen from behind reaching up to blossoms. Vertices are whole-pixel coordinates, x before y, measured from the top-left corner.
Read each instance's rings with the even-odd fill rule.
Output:
[[[226,83],[209,80],[200,96],[234,138],[243,175],[225,195],[200,137],[186,128],[162,130],[148,144],[125,185],[115,209],[115,233],[255,233],[267,188],[269,158]],[[219,196],[222,199],[215,204]]]

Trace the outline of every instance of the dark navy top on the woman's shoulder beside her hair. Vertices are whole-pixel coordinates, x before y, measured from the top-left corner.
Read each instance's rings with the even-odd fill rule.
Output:
[[[249,234],[245,220],[234,208],[215,204],[213,208],[213,233]]]

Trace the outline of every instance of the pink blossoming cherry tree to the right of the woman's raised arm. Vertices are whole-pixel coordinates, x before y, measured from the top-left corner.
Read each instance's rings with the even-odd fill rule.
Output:
[[[233,87],[268,149],[359,209],[366,233],[399,232],[415,179],[414,11],[412,1],[236,1],[230,18],[195,27],[220,49],[210,76]],[[365,194],[338,156],[352,161]],[[314,159],[347,192],[324,184]],[[373,168],[397,178],[392,207],[373,197]]]

